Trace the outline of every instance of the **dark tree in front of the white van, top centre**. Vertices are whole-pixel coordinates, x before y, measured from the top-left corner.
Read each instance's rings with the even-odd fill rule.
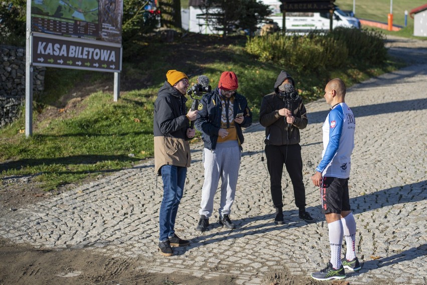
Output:
[[[207,24],[222,31],[224,36],[236,30],[252,36],[257,26],[271,14],[268,5],[257,0],[205,0],[200,9]]]

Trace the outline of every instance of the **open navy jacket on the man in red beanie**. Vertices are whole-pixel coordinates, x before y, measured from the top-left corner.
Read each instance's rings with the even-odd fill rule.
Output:
[[[220,96],[220,89],[218,87],[211,93],[203,95],[200,100],[197,117],[194,122],[196,129],[201,132],[201,139],[204,142],[204,147],[209,150],[216,148],[218,132],[221,129],[221,116],[223,110]],[[234,95],[233,114],[236,116],[239,113],[243,113],[244,120],[242,124],[235,122],[235,126],[240,149],[242,150],[242,144],[245,140],[242,133],[242,127],[247,128],[252,124],[252,113],[248,107],[248,101],[246,98],[236,93]]]

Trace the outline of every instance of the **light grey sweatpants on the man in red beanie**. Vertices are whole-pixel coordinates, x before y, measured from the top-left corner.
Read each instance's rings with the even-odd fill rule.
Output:
[[[241,151],[238,141],[218,143],[216,149],[203,149],[204,182],[201,189],[200,215],[210,217],[213,197],[221,177],[221,202],[219,213],[229,215],[236,194]]]

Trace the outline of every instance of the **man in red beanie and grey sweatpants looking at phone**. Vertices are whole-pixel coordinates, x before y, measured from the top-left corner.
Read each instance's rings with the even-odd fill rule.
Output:
[[[201,189],[200,219],[197,231],[205,231],[213,211],[213,197],[221,178],[219,223],[236,228],[230,220],[231,207],[236,194],[242,143],[242,127],[252,124],[252,113],[246,98],[237,93],[239,83],[232,71],[221,75],[218,88],[203,95],[195,120],[204,142],[204,182]]]

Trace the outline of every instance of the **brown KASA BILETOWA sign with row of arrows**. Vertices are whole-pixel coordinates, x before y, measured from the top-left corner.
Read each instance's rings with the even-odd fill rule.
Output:
[[[32,35],[31,62],[35,66],[120,72],[121,59],[120,44],[38,33]]]

